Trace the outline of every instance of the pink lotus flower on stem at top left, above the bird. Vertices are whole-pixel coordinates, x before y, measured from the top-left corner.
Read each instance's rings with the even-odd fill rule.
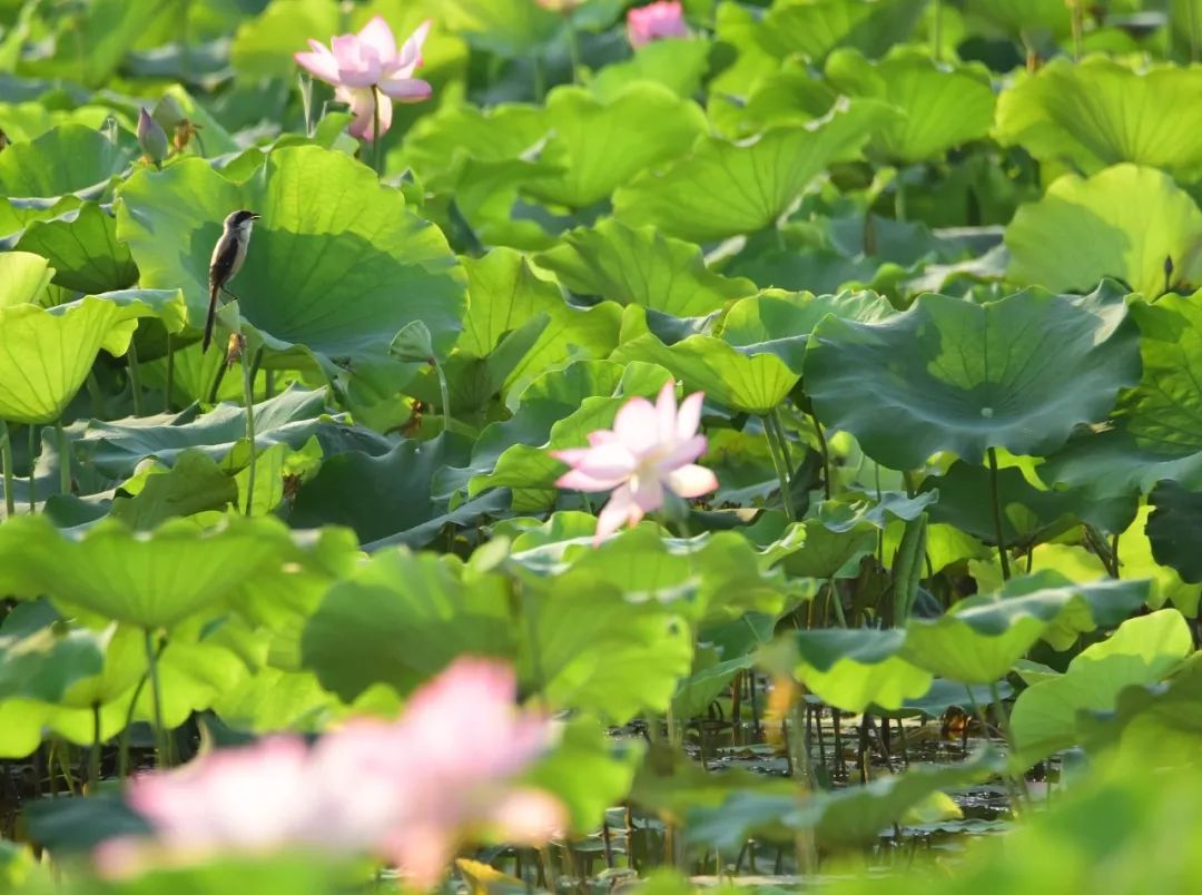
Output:
[[[392,102],[382,101],[380,94],[397,102],[429,99],[430,85],[413,77],[422,65],[422,45],[429,30],[430,23],[424,22],[398,51],[388,23],[376,16],[358,34],[334,37],[329,47],[310,40],[313,52],[293,58],[314,77],[334,85],[334,96],[349,103],[355,114],[351,134],[370,141],[375,138],[377,105],[380,136],[392,126]]]

